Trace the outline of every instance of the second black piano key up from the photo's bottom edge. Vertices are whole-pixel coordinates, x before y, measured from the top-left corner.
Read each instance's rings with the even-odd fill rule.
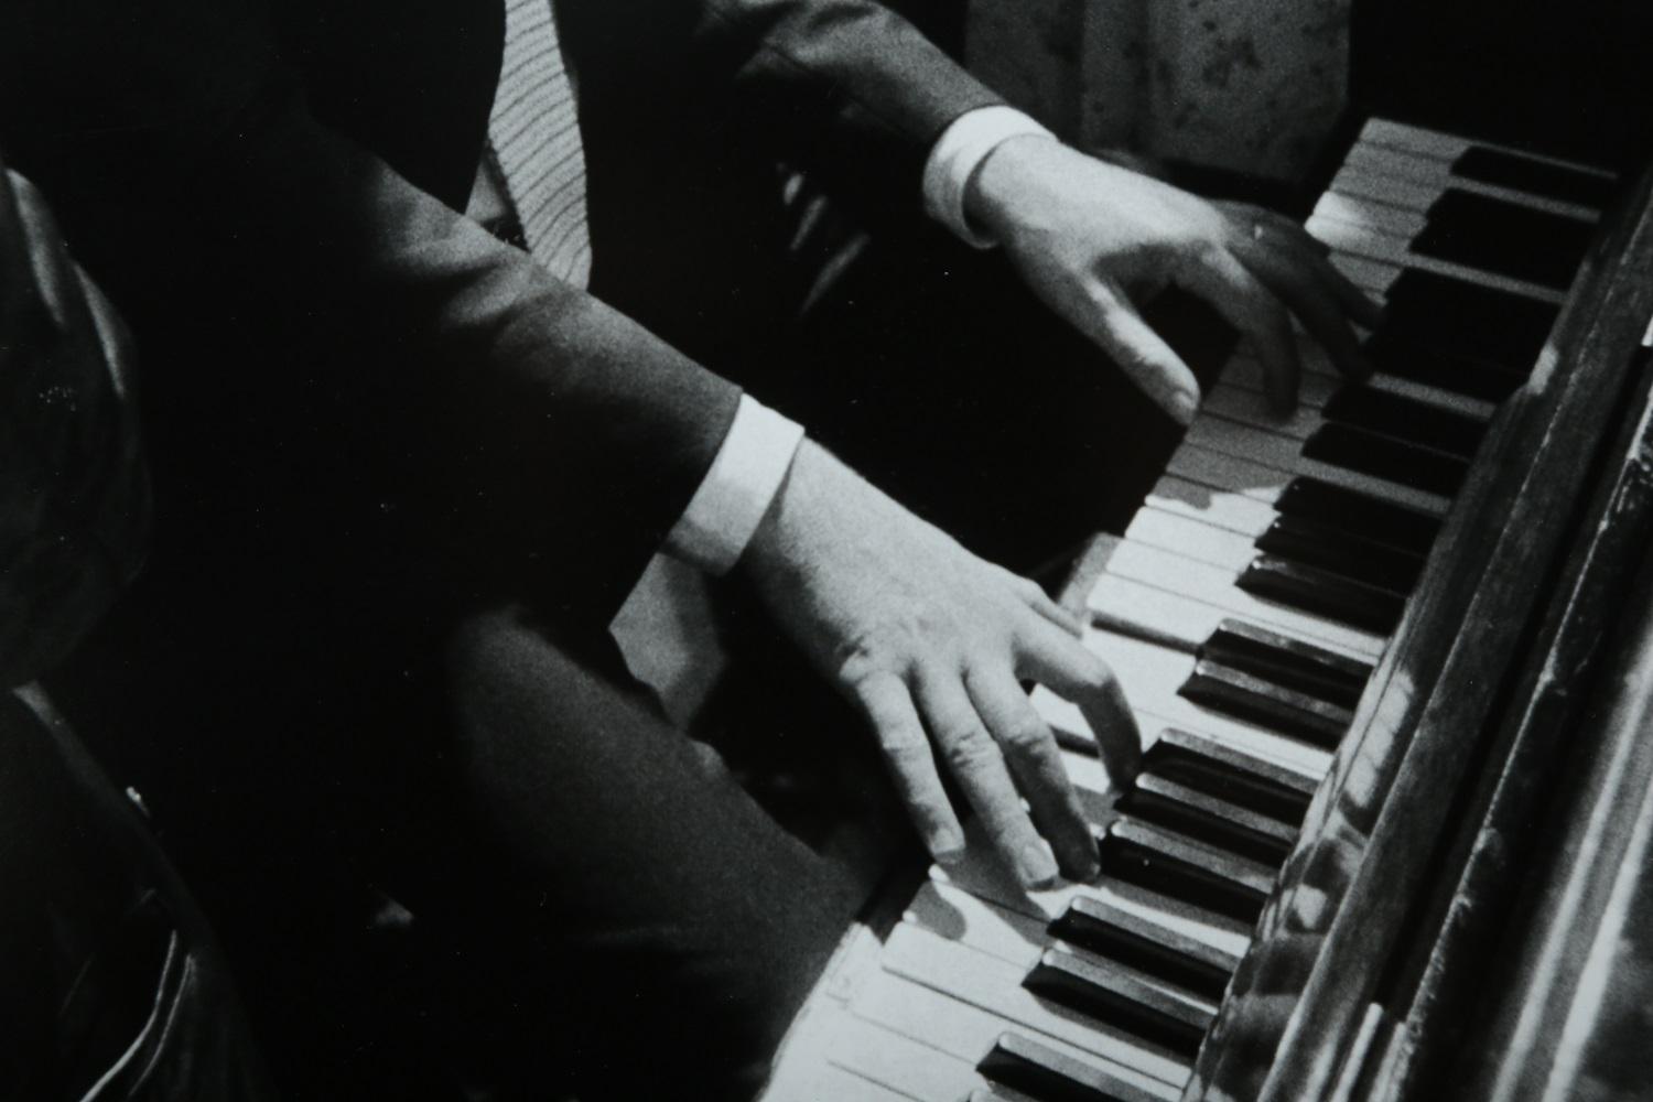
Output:
[[[1061,948],[1046,948],[1023,986],[1190,1059],[1198,1056],[1217,1014],[1203,1000],[1157,986],[1112,962],[1084,960]]]

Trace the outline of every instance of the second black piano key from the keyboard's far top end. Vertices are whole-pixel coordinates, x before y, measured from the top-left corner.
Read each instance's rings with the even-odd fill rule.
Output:
[[[1501,198],[1446,188],[1412,251],[1565,291],[1595,226]]]

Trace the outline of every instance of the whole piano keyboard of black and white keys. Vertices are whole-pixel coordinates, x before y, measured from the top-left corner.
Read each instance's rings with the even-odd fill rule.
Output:
[[[1268,411],[1246,352],[1122,539],[1086,644],[1144,768],[1111,793],[1078,709],[1035,702],[1103,876],[1023,892],[985,846],[934,867],[888,938],[846,943],[772,1102],[1179,1099],[1496,403],[1555,319],[1612,190],[1595,169],[1370,121],[1308,221],[1385,304],[1344,383],[1303,345]]]

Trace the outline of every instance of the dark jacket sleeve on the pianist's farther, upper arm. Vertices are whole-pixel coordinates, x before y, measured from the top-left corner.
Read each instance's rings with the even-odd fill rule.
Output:
[[[881,215],[916,216],[924,160],[947,124],[1003,102],[869,0],[555,7],[582,116],[590,106],[612,122],[603,140],[618,131],[660,142],[663,117],[703,112]]]

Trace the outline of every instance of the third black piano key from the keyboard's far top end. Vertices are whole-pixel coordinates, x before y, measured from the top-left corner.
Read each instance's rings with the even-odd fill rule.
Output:
[[[1496,363],[1526,377],[1537,360],[1557,307],[1451,276],[1408,268],[1384,296],[1379,344]]]

